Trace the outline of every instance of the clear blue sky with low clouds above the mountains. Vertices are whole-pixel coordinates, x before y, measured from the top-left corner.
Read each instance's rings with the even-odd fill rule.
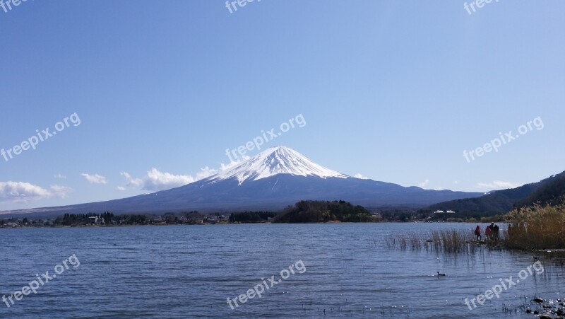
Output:
[[[0,8],[0,148],[69,117],[35,150],[0,157],[0,210],[182,185],[300,114],[304,127],[263,147],[429,189],[486,191],[560,173],[565,2],[492,1],[471,15],[464,2]],[[499,151],[463,156],[529,121]]]

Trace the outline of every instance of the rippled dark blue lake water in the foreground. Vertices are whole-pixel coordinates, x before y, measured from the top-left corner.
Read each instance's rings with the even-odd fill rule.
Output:
[[[531,253],[481,250],[450,257],[383,247],[391,233],[472,224],[243,224],[0,229],[0,296],[75,254],[80,265],[49,280],[1,318],[534,318],[505,313],[533,296],[563,297],[561,267],[540,257],[530,275],[482,306],[465,298],[532,265]],[[305,271],[300,273],[297,262]],[[77,263],[73,264],[77,265]],[[281,270],[293,271],[283,275]],[[301,266],[302,264],[298,264]],[[61,271],[59,267],[59,272]],[[299,268],[304,270],[303,268]],[[530,268],[531,269],[531,268]],[[437,277],[436,272],[445,273]],[[275,275],[273,287],[268,278]],[[40,275],[41,277],[41,275]],[[261,298],[230,308],[261,284]],[[261,290],[260,287],[257,288]],[[252,294],[250,294],[251,296]],[[8,301],[9,303],[9,301]],[[233,304],[233,302],[232,302]]]

